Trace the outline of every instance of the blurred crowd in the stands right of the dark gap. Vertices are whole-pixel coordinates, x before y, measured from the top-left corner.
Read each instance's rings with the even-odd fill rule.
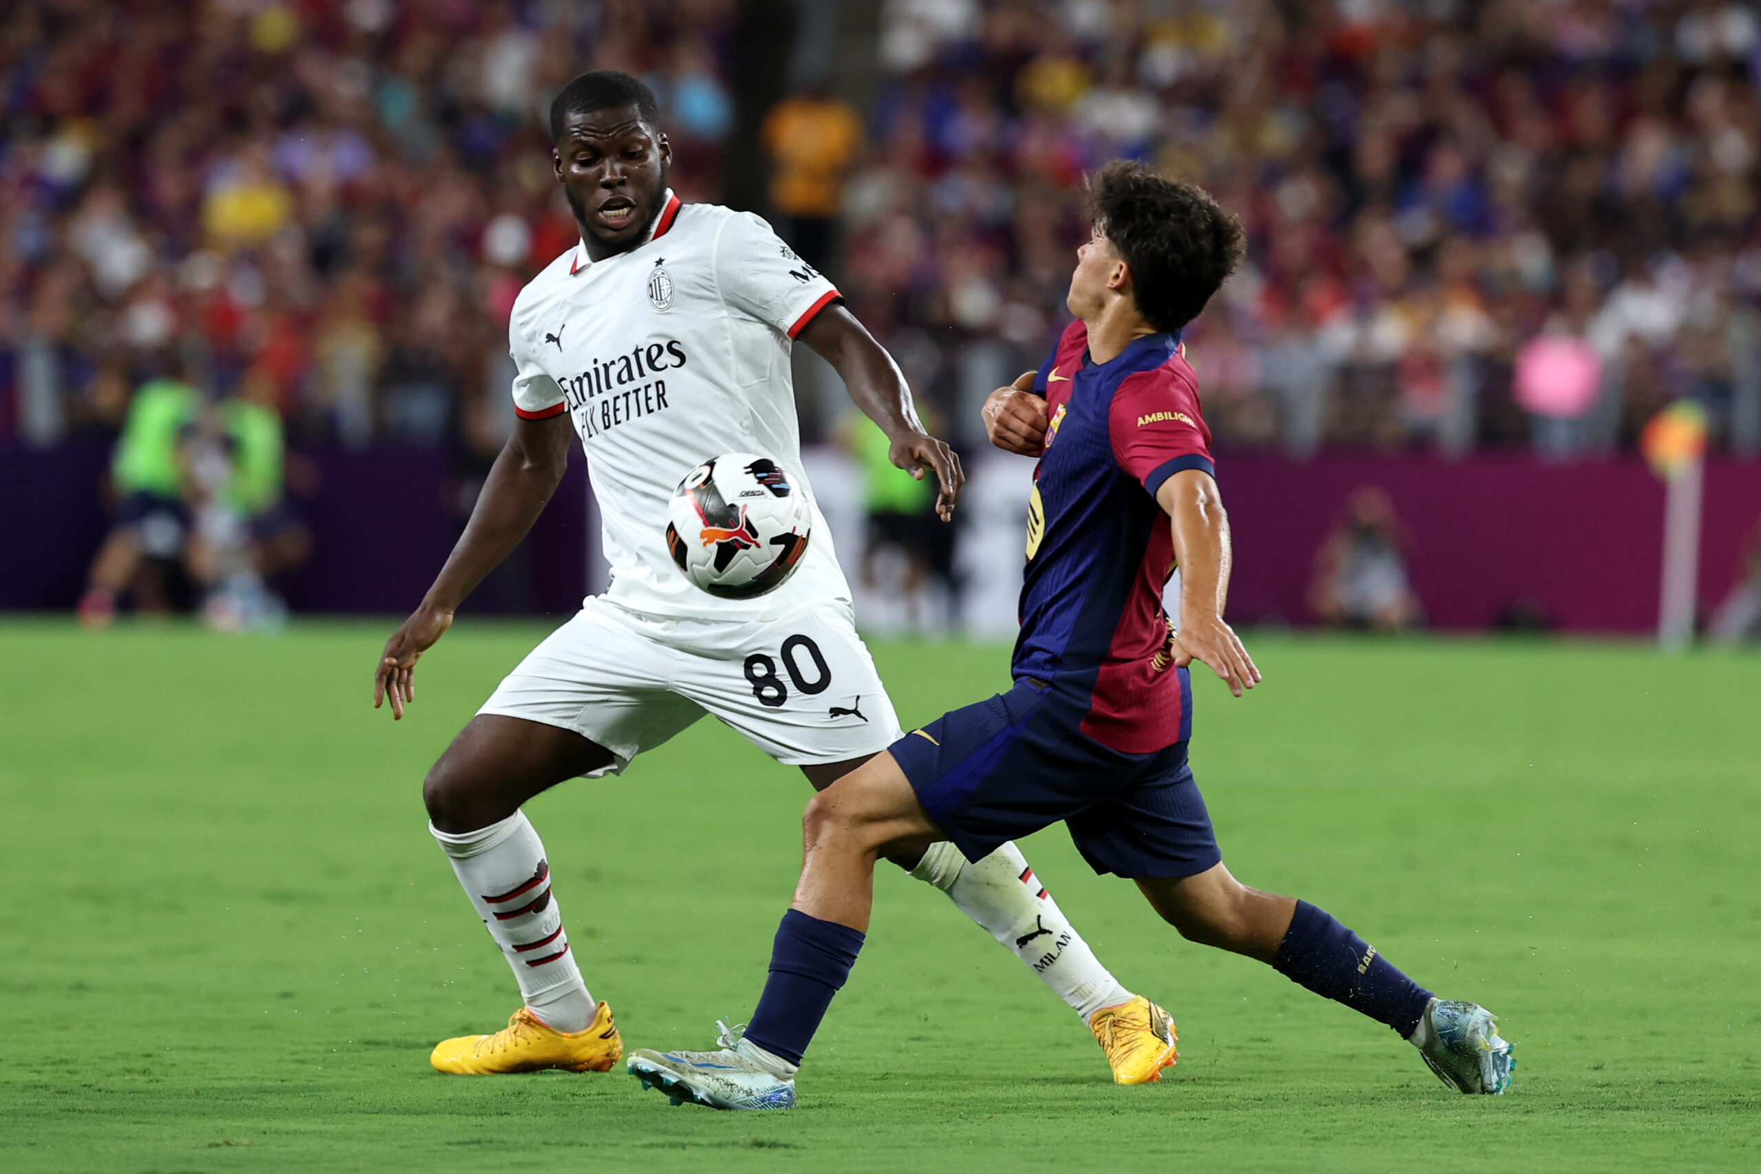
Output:
[[[1252,239],[1187,334],[1222,449],[1606,452],[1692,396],[1754,454],[1757,53],[1717,0],[888,0],[845,289],[979,396],[1138,157]]]

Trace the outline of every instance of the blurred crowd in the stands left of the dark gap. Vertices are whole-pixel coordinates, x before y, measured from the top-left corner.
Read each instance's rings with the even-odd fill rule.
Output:
[[[507,313],[576,239],[541,128],[588,67],[718,194],[731,4],[41,0],[0,26],[0,437],[116,429],[176,354],[296,437],[493,452]]]

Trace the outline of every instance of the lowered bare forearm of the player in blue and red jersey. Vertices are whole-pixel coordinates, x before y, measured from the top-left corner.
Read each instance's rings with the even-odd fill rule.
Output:
[[[1229,598],[1229,516],[1210,473],[1187,468],[1155,493],[1173,519],[1175,561],[1180,567],[1180,630],[1176,665],[1201,660],[1236,697],[1259,683],[1259,669],[1242,639],[1222,620]]]

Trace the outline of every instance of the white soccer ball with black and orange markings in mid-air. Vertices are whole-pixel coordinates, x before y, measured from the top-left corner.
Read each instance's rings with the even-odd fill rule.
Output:
[[[812,532],[812,507],[782,465],[724,452],[678,482],[666,546],[685,577],[710,595],[754,598],[794,574]]]

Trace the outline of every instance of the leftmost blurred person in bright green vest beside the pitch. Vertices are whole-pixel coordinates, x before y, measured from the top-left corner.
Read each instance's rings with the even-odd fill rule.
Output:
[[[116,523],[79,600],[85,627],[109,627],[127,597],[143,614],[171,611],[190,537],[190,438],[201,407],[201,393],[176,378],[134,393],[111,461]]]

